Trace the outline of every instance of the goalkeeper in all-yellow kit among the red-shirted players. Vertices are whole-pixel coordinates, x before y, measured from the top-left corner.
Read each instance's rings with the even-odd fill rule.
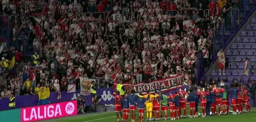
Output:
[[[149,99],[146,101],[146,108],[147,108],[147,120],[152,120],[152,111],[153,111],[153,100],[154,98],[158,97],[158,95],[151,95],[149,91],[147,91],[147,94],[144,95],[144,98],[147,98],[147,96],[150,95]]]

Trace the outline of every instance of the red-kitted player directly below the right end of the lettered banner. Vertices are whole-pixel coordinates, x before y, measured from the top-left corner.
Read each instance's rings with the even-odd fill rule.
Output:
[[[180,114],[181,114],[181,109],[183,109],[184,111],[184,116],[187,115],[187,111],[186,111],[186,102],[185,102],[185,96],[188,95],[187,92],[184,91],[184,88],[181,87],[180,91],[178,92],[179,96],[180,96]]]

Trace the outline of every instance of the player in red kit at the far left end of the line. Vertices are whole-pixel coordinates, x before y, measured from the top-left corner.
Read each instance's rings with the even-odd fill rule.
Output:
[[[117,91],[117,95],[115,95],[115,112],[117,113],[117,121],[119,121],[119,113],[120,113],[120,117],[123,121],[122,118],[122,107],[121,107],[121,100],[122,100],[122,96],[120,95],[120,92]]]

